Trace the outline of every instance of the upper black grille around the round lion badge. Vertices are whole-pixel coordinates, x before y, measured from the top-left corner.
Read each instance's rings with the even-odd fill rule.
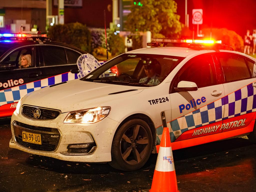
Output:
[[[27,116],[28,118],[34,118],[34,111],[36,109],[40,109],[41,114],[40,117],[37,120],[52,120],[57,118],[57,116],[60,114],[60,111],[52,110],[52,109],[44,109],[40,107],[32,107],[32,106],[23,106],[22,107],[22,114],[24,116]]]

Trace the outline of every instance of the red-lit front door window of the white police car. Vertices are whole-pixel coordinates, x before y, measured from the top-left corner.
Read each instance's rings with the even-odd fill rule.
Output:
[[[199,55],[190,59],[178,72],[178,81],[191,81],[198,88],[217,84],[214,62],[210,54]]]

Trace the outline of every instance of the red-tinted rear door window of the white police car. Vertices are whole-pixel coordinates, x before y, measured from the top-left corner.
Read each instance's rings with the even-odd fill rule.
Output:
[[[217,54],[223,69],[226,82],[248,79],[252,77],[243,56],[233,53]]]

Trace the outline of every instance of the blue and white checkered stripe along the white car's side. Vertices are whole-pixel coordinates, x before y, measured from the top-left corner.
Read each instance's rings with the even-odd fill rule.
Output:
[[[255,112],[256,91],[253,89],[252,83],[230,93],[229,95],[226,95],[221,99],[169,122],[167,126],[169,127],[169,130],[171,130],[171,142],[174,142],[185,131],[221,121],[222,111],[224,111],[223,120]],[[158,127],[156,132],[157,142],[160,143],[163,126]]]

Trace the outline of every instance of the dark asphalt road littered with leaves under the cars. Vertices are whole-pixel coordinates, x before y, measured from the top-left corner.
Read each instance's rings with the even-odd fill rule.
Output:
[[[9,148],[10,121],[0,122],[0,191],[129,191],[151,187],[156,163],[134,172],[108,164],[61,161]],[[246,138],[173,151],[178,189],[256,192],[256,145]]]

